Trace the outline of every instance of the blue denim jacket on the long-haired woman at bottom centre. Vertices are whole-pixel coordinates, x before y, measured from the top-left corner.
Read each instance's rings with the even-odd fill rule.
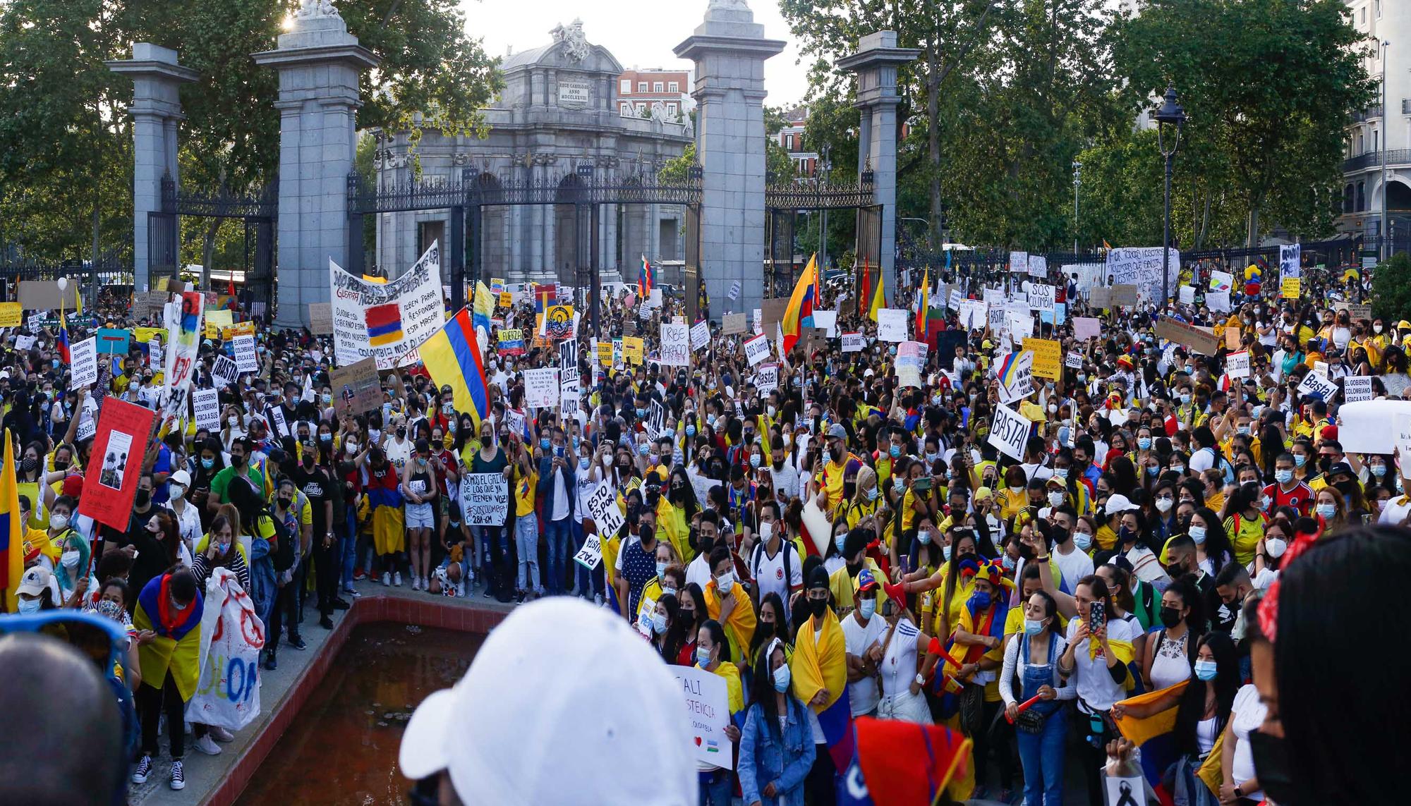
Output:
[[[813,767],[813,728],[804,705],[792,693],[786,698],[789,717],[785,730],[776,733],[777,717],[765,713],[759,703],[749,706],[745,728],[739,736],[739,790],[745,803],[762,802],[775,806],[777,795],[785,795],[789,803],[803,803],[803,779]],[[775,721],[773,726],[768,724]],[[765,798],[762,790],[770,782],[777,789],[776,798]]]

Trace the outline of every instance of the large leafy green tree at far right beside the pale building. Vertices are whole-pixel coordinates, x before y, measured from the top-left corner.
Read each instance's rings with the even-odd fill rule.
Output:
[[[1119,23],[1113,48],[1132,106],[1177,87],[1182,151],[1218,155],[1212,179],[1247,214],[1250,247],[1261,218],[1331,234],[1343,127],[1376,99],[1369,52],[1340,0],[1149,0]]]

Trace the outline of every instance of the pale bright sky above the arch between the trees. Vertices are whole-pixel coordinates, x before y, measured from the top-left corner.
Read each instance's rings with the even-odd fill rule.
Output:
[[[588,42],[602,45],[625,69],[679,68],[690,62],[672,52],[706,16],[707,0],[461,0],[471,38],[483,38],[485,52],[504,56],[547,45],[549,31],[559,23],[583,20]],[[789,46],[765,62],[766,106],[789,107],[809,92],[809,73],[799,61],[799,46],[779,16],[775,0],[749,0],[755,23],[763,24],[769,39]]]

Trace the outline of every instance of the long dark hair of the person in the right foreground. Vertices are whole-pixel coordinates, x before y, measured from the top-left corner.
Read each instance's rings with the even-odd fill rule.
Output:
[[[1285,771],[1307,803],[1395,803],[1405,796],[1400,743],[1367,726],[1411,713],[1411,689],[1394,664],[1367,665],[1359,685],[1349,686],[1346,662],[1326,648],[1386,640],[1384,627],[1366,614],[1395,609],[1411,575],[1408,535],[1405,528],[1352,528],[1315,542],[1280,572],[1278,717]],[[1404,726],[1394,731],[1405,736]]]

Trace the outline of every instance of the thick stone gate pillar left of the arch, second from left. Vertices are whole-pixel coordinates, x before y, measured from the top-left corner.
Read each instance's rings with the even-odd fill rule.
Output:
[[[308,8],[308,7],[305,7]],[[347,266],[347,175],[357,148],[358,76],[377,56],[337,11],[296,13],[277,49],[254,54],[279,70],[279,271],[275,326],[309,323],[329,302],[329,259]]]

